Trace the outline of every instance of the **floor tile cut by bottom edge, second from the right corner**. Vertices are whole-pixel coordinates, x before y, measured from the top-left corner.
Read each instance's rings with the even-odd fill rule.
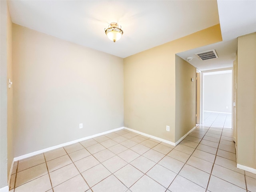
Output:
[[[208,190],[211,192],[246,192],[246,190],[213,175],[210,178]]]

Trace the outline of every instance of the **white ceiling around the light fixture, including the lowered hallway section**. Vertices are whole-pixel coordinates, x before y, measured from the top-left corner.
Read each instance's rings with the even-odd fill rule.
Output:
[[[234,39],[256,31],[255,0],[218,0],[218,4],[216,0],[9,0],[8,4],[16,24],[122,58],[220,23],[224,42],[178,54],[185,59],[216,49],[219,58],[212,61],[223,59],[218,64],[192,60],[200,70],[230,66]],[[118,22],[124,31],[115,43],[104,33],[111,22]]]

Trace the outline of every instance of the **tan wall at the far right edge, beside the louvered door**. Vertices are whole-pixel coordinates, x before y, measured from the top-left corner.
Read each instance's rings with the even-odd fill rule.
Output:
[[[256,169],[256,32],[238,37],[237,163]]]

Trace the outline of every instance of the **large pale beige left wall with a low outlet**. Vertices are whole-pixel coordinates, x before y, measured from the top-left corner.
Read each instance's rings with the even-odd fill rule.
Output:
[[[122,58],[16,24],[12,46],[14,156],[123,126]]]

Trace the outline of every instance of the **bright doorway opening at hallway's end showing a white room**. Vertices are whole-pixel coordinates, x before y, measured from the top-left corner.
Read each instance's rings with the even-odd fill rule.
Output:
[[[232,68],[202,72],[201,123],[232,128]]]

